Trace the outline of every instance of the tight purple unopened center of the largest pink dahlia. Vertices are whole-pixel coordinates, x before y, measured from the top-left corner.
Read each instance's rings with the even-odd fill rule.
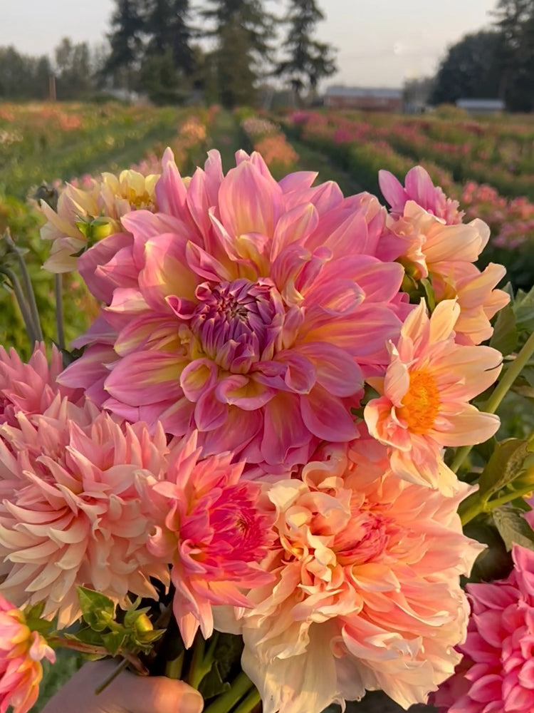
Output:
[[[219,366],[242,372],[243,364],[271,359],[285,310],[268,279],[199,284],[191,319],[202,350]]]

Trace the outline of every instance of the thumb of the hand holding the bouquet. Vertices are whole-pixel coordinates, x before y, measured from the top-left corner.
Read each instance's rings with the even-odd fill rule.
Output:
[[[108,690],[108,699],[128,713],[201,713],[204,700],[183,681],[124,672]]]

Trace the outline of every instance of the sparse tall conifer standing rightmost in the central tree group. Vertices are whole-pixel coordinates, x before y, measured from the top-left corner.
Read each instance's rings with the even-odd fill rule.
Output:
[[[304,88],[315,93],[320,79],[337,69],[333,48],[313,39],[315,26],[324,19],[315,0],[291,0],[286,17],[288,31],[283,43],[286,56],[278,63],[276,74],[288,80],[298,101]]]

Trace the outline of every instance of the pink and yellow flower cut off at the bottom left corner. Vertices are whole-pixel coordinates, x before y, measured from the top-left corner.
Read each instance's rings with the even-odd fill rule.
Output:
[[[27,713],[36,702],[43,678],[41,661],[56,655],[43,637],[31,631],[21,611],[0,595],[0,713]]]

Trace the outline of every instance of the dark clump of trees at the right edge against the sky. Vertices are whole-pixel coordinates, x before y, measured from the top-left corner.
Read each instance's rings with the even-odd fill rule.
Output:
[[[431,104],[499,98],[509,111],[534,111],[534,0],[499,0],[491,29],[449,48],[431,82]]]

